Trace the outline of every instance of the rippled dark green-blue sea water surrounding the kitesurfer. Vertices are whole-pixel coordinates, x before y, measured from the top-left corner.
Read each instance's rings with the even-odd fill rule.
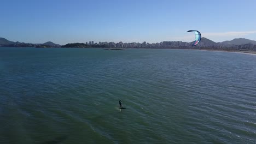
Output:
[[[256,143],[256,56],[1,47],[0,143]]]

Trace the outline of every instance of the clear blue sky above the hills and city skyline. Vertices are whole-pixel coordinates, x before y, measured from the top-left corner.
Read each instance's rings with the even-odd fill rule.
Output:
[[[2,0],[0,37],[25,43],[256,40],[256,1]]]

